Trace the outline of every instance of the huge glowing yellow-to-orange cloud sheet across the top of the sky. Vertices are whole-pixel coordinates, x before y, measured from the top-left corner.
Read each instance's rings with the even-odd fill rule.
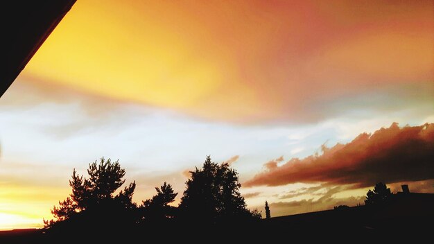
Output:
[[[318,121],[348,110],[324,105],[372,92],[385,101],[371,109],[397,110],[390,99],[398,96],[433,101],[432,8],[432,1],[78,1],[23,76],[220,121]]]

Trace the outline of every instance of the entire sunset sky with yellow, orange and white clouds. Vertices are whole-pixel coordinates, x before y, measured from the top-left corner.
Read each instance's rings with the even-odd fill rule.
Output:
[[[207,155],[272,216],[434,192],[432,1],[77,1],[0,98],[0,229],[42,227],[73,168],[141,203]],[[263,211],[264,213],[264,211]]]

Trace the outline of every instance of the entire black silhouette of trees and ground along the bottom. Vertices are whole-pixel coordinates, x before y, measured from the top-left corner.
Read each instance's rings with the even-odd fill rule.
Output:
[[[239,192],[238,173],[209,156],[190,172],[177,206],[178,193],[167,182],[155,187],[152,198],[132,202],[136,184],[125,184],[124,176],[118,161],[104,158],[89,164],[87,177],[74,169],[71,194],[51,209],[53,219],[44,220],[44,229],[0,234],[0,243],[257,243],[288,236],[362,241],[394,232],[431,233],[434,217],[434,194],[410,193],[407,185],[394,194],[380,182],[367,192],[365,205],[271,218],[266,202],[260,221],[261,213],[248,210]]]

